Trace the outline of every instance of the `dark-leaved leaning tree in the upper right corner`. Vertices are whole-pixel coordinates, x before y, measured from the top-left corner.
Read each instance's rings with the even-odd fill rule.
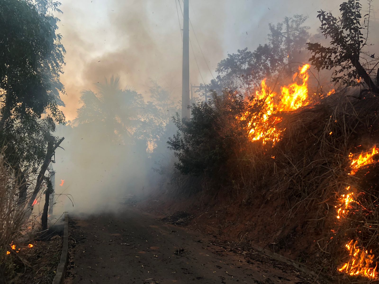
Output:
[[[334,82],[354,86],[360,83],[362,78],[368,89],[377,95],[379,88],[370,75],[379,58],[375,58],[374,54],[368,55],[364,49],[368,41],[371,0],[369,4],[369,12],[363,16],[364,27],[362,27],[362,5],[359,0],[343,2],[340,5],[341,17],[338,18],[331,12],[318,11],[320,29],[325,38],[330,38],[330,47],[324,47],[319,43],[308,43],[308,49],[313,53],[309,61],[318,70],[335,69],[332,77]],[[363,61],[366,64],[363,64]]]

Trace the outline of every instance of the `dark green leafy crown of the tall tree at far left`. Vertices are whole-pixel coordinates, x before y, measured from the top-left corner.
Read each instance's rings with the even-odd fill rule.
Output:
[[[0,143],[15,169],[35,172],[55,122],[64,123],[64,50],[56,34],[59,2],[0,2]]]

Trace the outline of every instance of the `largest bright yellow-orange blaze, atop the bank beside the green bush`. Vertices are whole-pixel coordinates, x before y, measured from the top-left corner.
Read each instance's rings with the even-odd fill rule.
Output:
[[[280,122],[280,117],[275,115],[278,112],[294,111],[302,106],[307,106],[310,103],[308,96],[308,79],[307,70],[309,64],[299,68],[299,72],[293,75],[293,83],[288,86],[280,87],[280,95],[270,90],[266,85],[266,79],[261,83],[261,90],[257,91],[252,104],[262,103],[262,111],[254,115],[247,124],[249,137],[252,141],[261,140],[263,144],[267,142],[275,142],[280,140],[280,133],[284,129],[277,129],[276,124]],[[296,82],[296,79],[302,80],[301,84]],[[240,120],[246,120],[249,112],[244,113]]]

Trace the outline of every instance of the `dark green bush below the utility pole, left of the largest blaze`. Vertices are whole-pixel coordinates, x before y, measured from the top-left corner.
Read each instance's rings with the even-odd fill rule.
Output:
[[[175,167],[183,175],[206,175],[223,180],[229,171],[227,162],[234,151],[236,133],[233,127],[238,111],[246,102],[235,94],[217,96],[211,102],[193,104],[191,118],[181,120],[179,115],[174,122],[177,133],[168,144],[179,163]]]

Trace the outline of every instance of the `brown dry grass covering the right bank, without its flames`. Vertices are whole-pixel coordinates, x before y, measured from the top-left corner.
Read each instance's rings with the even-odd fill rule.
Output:
[[[296,111],[277,113],[281,120],[277,123],[275,119],[275,127],[284,131],[274,147],[251,142],[247,136],[247,123],[252,117],[262,116],[264,105],[236,105],[233,95],[215,100],[214,104],[221,113],[215,125],[219,135],[233,140],[231,156],[226,164],[220,165],[223,172],[227,169],[230,183],[215,187],[217,176],[211,182],[206,176],[195,181],[189,176],[176,175],[172,191],[197,186],[208,191],[208,195],[229,196],[230,204],[240,202],[241,215],[245,206],[253,208],[258,216],[261,208],[266,210],[263,215],[273,212],[277,210],[273,203],[277,202],[275,205],[282,210],[275,212],[280,219],[275,220],[276,226],[266,230],[271,220],[261,223],[252,220],[256,224],[250,229],[261,233],[266,230],[265,234],[271,234],[268,237],[271,243],[273,239],[280,242],[288,238],[291,231],[301,230],[302,244],[295,242],[291,250],[304,250],[300,254],[315,270],[342,282],[370,281],[346,277],[337,268],[346,262],[345,244],[350,240],[359,240],[361,248],[373,250],[375,261],[379,261],[379,163],[349,175],[349,153],[359,154],[379,144],[379,99],[360,100],[340,92]],[[246,111],[249,111],[246,120],[236,119],[236,113]],[[356,190],[360,205],[337,222],[335,206],[348,186]],[[270,231],[273,228],[277,231]],[[254,236],[247,235],[247,240],[252,239]],[[307,248],[301,247],[304,244]]]

